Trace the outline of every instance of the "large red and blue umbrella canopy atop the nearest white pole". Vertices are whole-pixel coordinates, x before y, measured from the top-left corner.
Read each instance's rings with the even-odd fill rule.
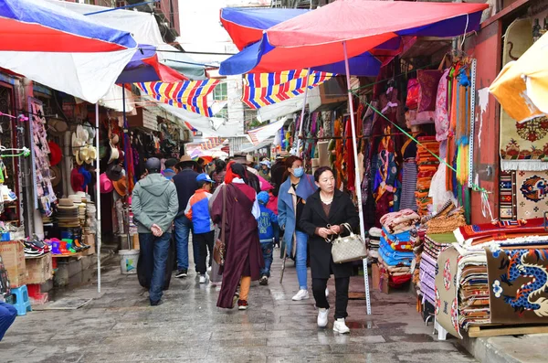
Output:
[[[485,4],[338,0],[270,27],[221,64],[221,74],[320,69],[364,55],[394,38],[457,37],[477,30]],[[236,37],[236,36],[233,36]],[[253,47],[252,49],[250,49]],[[351,72],[363,72],[352,67]],[[344,73],[337,71],[338,74]]]

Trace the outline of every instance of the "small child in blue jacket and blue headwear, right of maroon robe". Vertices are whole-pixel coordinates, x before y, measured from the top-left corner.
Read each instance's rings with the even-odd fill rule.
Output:
[[[261,285],[269,284],[270,265],[272,264],[272,251],[274,250],[274,228],[273,224],[278,223],[278,216],[272,210],[267,208],[269,202],[269,193],[263,191],[258,193],[257,200],[260,208],[260,217],[258,219],[258,240],[263,251],[265,268],[260,271]]]

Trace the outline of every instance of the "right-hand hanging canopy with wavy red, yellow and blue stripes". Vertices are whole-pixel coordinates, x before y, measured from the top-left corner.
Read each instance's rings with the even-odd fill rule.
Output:
[[[299,96],[306,90],[307,75],[306,69],[245,74],[242,102],[252,109],[258,109]],[[309,89],[321,85],[332,76],[332,73],[312,70],[308,82]]]

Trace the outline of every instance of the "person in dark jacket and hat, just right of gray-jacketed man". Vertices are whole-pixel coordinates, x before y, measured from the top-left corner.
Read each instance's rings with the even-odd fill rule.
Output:
[[[188,276],[188,237],[192,229],[192,222],[184,216],[184,208],[188,204],[188,200],[195,194],[198,189],[198,182],[195,168],[196,162],[189,156],[181,156],[179,164],[180,171],[173,177],[175,187],[177,188],[177,196],[179,198],[179,213],[175,218],[175,244],[177,246],[177,273],[175,277]],[[193,240],[193,257],[195,263],[198,261],[199,246]]]

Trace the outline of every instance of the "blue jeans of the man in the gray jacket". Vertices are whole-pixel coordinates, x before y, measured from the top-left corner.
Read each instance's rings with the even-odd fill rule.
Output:
[[[162,237],[154,237],[152,233],[139,233],[139,247],[142,250],[142,260],[147,270],[153,270],[153,279],[149,290],[151,303],[156,303],[162,298],[163,278],[171,233],[163,233]]]

